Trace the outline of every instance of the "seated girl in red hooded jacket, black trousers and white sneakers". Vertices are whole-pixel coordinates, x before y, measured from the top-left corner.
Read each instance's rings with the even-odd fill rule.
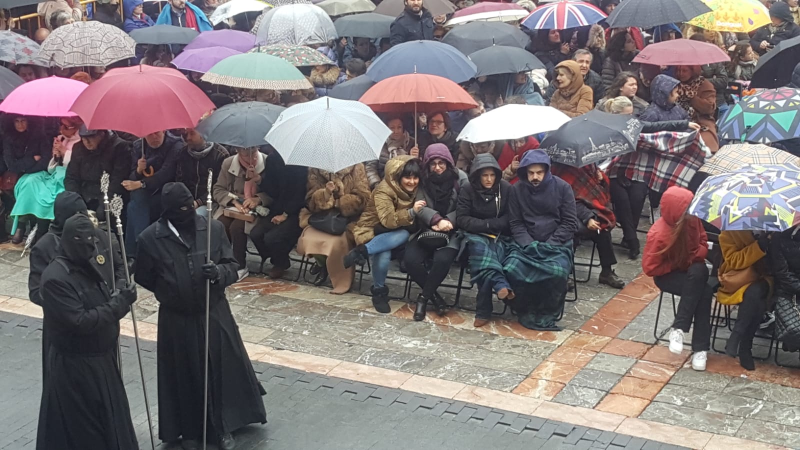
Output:
[[[661,200],[661,218],[647,232],[642,271],[664,292],[680,295],[670,331],[670,352],[683,350],[683,333],[692,333],[692,368],[706,370],[711,346],[711,297],[708,285],[708,239],[702,222],[687,210],[694,195],[683,187],[670,187]]]

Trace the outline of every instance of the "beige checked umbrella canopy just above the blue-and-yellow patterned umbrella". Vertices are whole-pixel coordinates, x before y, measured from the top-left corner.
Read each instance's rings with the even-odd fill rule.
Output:
[[[709,175],[722,175],[741,170],[746,166],[772,164],[798,164],[800,158],[788,151],[764,144],[735,143],[722,146],[706,163],[698,169]]]

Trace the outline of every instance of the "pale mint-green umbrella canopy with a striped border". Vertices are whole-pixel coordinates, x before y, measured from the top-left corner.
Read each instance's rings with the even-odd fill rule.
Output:
[[[214,64],[202,81],[245,89],[310,89],[300,70],[277,56],[266,53],[234,54]]]

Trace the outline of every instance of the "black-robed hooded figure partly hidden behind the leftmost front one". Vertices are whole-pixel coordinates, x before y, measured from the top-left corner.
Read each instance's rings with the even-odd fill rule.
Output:
[[[66,219],[70,219],[75,214],[86,215],[86,203],[82,197],[76,192],[63,191],[55,196],[53,204],[54,220],[50,223],[50,230],[46,235],[39,239],[34,247],[30,249],[30,275],[28,275],[28,298],[30,301],[42,306],[42,295],[39,288],[42,282],[42,272],[45,271],[47,265],[50,264],[60,253],[58,241],[61,240],[61,235],[64,230],[64,223]],[[94,234],[97,236],[97,249],[98,255],[103,255],[103,263],[98,264],[97,260],[92,261],[92,265],[100,271],[106,284],[111,286],[112,277],[119,280],[119,286],[125,284],[125,266],[122,264],[122,254],[119,249],[117,239],[112,235],[111,242],[114,248],[114,265],[109,263],[111,251],[108,246],[108,233],[99,228],[94,229]],[[46,330],[42,330],[42,381],[47,379],[47,349],[50,345],[50,336],[46,334]],[[116,351],[116,349],[115,349]]]

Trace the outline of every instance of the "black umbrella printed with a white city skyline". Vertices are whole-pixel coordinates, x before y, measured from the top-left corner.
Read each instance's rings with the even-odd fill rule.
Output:
[[[630,115],[590,110],[548,133],[541,147],[554,163],[583,167],[636,150],[641,132]]]

